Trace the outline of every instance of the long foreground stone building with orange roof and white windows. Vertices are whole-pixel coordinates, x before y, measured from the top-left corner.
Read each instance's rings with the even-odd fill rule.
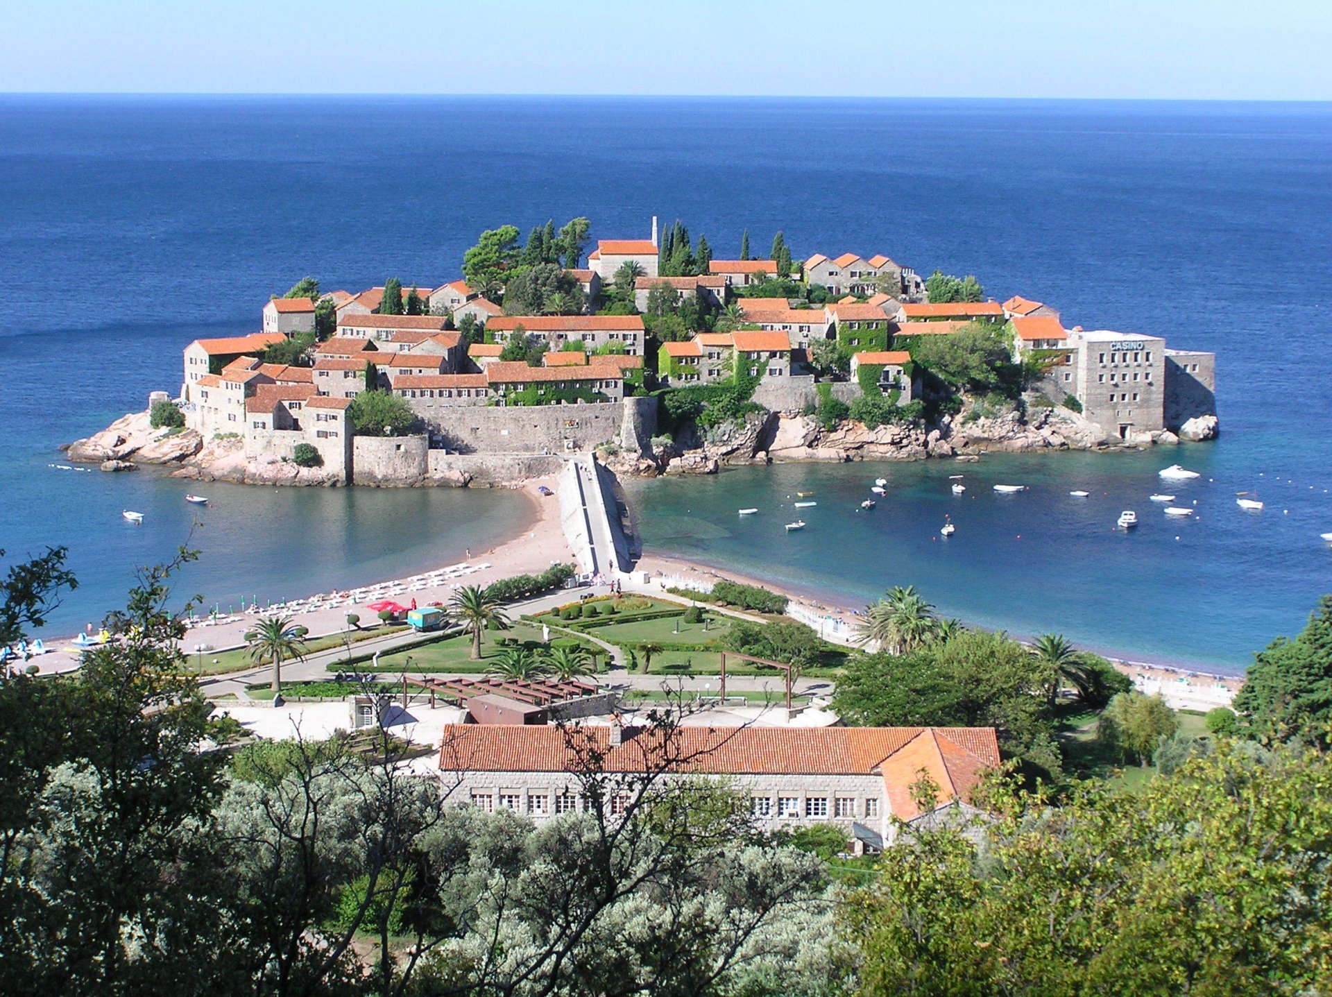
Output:
[[[649,769],[666,778],[715,776],[749,797],[761,830],[829,824],[856,852],[891,845],[895,821],[974,813],[982,773],[999,765],[994,728],[682,726],[667,741],[618,724],[468,724],[444,729],[440,777],[460,805],[506,808],[539,824],[586,809],[575,777],[585,752],[595,752],[613,780],[605,801],[611,818]],[[931,810],[912,792],[922,777],[935,786]]]

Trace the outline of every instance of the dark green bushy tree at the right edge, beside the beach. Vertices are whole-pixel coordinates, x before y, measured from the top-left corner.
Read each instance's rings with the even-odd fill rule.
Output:
[[[1332,742],[1332,596],[1295,640],[1277,637],[1255,654],[1233,705],[1249,737]]]

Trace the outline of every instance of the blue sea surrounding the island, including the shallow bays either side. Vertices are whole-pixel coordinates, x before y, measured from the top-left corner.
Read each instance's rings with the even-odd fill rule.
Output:
[[[575,215],[594,237],[678,217],[719,256],[782,229],[798,257],[884,252],[1070,325],[1217,353],[1215,444],[994,457],[963,501],[944,463],[651,483],[633,493],[653,549],[843,601],[916,584],[964,620],[1232,672],[1332,590],[1332,105],[0,96],[0,548],[69,546],[83,585],[53,628],[119,604],[133,565],[184,542],[204,556],[182,588],[225,605],[521,528],[511,495],[221,485],[193,526],[184,483],[48,465],[174,392],[190,339],[256,329],[305,275],[434,285],[481,229]],[[1195,522],[1146,501],[1176,460],[1203,472],[1180,489]],[[880,475],[890,497],[855,513]],[[988,488],[1008,480],[1031,491]],[[801,485],[819,506],[787,537],[774,525]],[[1233,493],[1252,489],[1267,508],[1244,516]],[[737,522],[741,505],[765,514]],[[1143,518],[1130,537],[1110,529],[1120,508]]]

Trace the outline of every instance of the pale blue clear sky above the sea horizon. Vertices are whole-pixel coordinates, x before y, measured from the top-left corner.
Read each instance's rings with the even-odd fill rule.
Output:
[[[1332,100],[1332,0],[16,0],[0,92]]]

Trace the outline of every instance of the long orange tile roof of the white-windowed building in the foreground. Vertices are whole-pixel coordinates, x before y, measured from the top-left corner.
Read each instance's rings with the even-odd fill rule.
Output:
[[[935,776],[936,781],[959,796],[975,785],[980,769],[999,764],[994,728],[682,726],[669,738],[625,728],[621,744],[611,746],[609,726],[579,726],[567,737],[603,752],[606,772],[642,772],[649,764],[667,762],[675,772],[706,774],[887,777],[891,766],[906,790],[918,777],[908,766],[919,761],[938,765],[943,778]],[[440,768],[452,772],[567,772],[575,764],[566,732],[549,725],[450,725],[440,749]]]

